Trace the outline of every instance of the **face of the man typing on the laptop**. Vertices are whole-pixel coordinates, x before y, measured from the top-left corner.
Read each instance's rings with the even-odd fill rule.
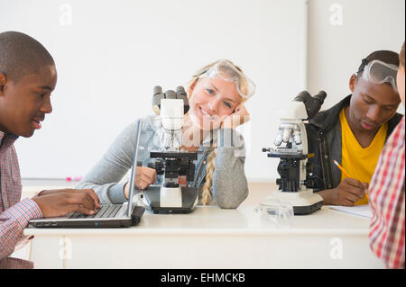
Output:
[[[52,112],[50,96],[56,82],[54,66],[41,67],[17,82],[0,74],[0,130],[29,138],[41,129],[45,114]]]

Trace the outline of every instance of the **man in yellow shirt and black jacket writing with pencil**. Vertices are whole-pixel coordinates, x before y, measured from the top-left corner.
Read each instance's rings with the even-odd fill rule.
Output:
[[[309,161],[318,176],[315,191],[324,204],[367,204],[368,184],[386,139],[401,121],[396,113],[401,99],[396,86],[399,55],[375,51],[364,58],[349,82],[353,94],[307,125]],[[336,160],[345,173],[333,165]]]

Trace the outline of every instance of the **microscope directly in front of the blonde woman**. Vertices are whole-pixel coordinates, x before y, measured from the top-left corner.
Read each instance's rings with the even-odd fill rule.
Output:
[[[182,86],[162,93],[153,88],[152,110],[161,117],[161,150],[150,150],[153,161],[148,164],[163,175],[160,185],[150,185],[143,191],[144,202],[154,213],[189,213],[198,204],[198,188],[188,186],[195,177],[197,152],[180,150],[183,115],[189,111],[189,100]]]

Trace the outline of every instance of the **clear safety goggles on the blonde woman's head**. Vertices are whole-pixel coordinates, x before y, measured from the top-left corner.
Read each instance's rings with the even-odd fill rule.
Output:
[[[252,97],[255,93],[254,82],[226,59],[218,61],[199,77],[215,78],[216,76],[220,76],[227,82],[234,82],[238,94],[245,99]]]

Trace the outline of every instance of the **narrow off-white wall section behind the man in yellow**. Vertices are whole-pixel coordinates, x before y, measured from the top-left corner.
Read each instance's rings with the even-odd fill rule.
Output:
[[[327,92],[324,108],[351,94],[349,78],[363,58],[400,52],[404,10],[404,0],[309,0],[308,89]]]

